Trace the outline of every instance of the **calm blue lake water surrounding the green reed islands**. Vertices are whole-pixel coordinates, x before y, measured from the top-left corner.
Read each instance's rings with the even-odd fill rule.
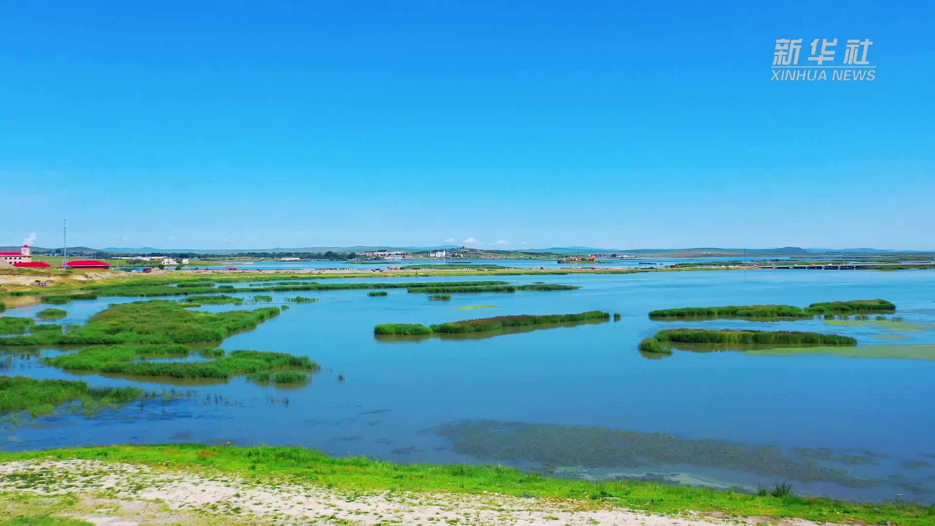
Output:
[[[418,278],[453,279],[470,278]],[[37,358],[60,350],[7,349],[0,357],[2,373],[79,378],[94,387],[174,388],[187,395],[91,418],[7,416],[0,423],[0,444],[7,450],[172,442],[295,445],[399,462],[497,461],[553,475],[640,476],[720,488],[788,480],[803,494],[935,502],[935,361],[683,350],[651,359],[637,351],[642,338],[678,327],[819,330],[854,336],[859,345],[935,345],[935,272],[737,270],[504,279],[583,288],[462,294],[451,301],[429,301],[405,289],[390,289],[383,298],[369,298],[366,290],[264,292],[274,304],[297,295],[320,301],[291,305],[222,346],[319,361],[323,372],[303,387],[263,387],[243,378],[205,385],[78,375]],[[415,279],[321,281],[378,280]],[[646,315],[670,307],[873,298],[896,303],[909,324],[894,330],[821,319],[663,322]],[[108,303],[124,300],[129,299],[69,303],[63,307],[69,313],[65,323],[83,323]],[[496,308],[458,310],[470,305]],[[5,315],[33,316],[47,306],[7,309]],[[234,308],[254,306],[201,310]],[[379,323],[590,310],[620,313],[622,319],[483,339],[386,342],[372,333]],[[338,374],[345,380],[338,381]]]

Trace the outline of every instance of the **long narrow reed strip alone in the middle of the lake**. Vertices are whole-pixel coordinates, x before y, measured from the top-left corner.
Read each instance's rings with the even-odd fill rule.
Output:
[[[381,335],[420,335],[432,333],[459,334],[465,332],[486,332],[490,330],[506,329],[510,327],[524,327],[530,325],[544,325],[550,323],[567,323],[585,320],[610,320],[611,314],[601,311],[589,311],[579,314],[518,314],[512,316],[495,316],[478,318],[449,323],[439,323],[425,327],[421,324],[382,324],[373,328],[374,334]]]

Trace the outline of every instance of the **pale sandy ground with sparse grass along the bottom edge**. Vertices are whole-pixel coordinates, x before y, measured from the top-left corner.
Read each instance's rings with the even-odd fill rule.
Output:
[[[807,520],[718,519],[685,511],[648,515],[593,502],[512,497],[484,492],[341,493],[311,485],[260,483],[96,460],[30,460],[0,464],[0,516],[41,515],[95,525],[140,524],[616,524],[697,526]]]

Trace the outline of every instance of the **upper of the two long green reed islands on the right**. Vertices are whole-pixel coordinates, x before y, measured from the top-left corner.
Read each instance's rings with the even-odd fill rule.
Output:
[[[808,318],[815,314],[854,312],[893,312],[896,305],[886,300],[851,300],[812,303],[802,309],[793,305],[726,305],[723,307],[684,307],[650,311],[651,318]]]

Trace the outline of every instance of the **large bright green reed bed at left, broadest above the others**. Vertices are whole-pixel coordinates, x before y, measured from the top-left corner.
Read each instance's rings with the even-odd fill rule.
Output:
[[[111,305],[88,323],[65,334],[33,334],[4,339],[8,345],[209,343],[253,329],[280,314],[277,307],[226,313],[198,313],[168,300],[134,301]],[[6,318],[0,318],[0,320]]]

